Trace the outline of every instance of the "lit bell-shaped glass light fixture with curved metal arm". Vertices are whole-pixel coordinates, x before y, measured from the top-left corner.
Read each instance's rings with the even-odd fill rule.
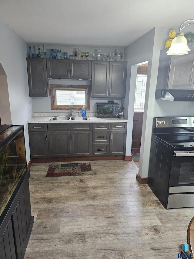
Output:
[[[186,22],[190,22],[190,23],[184,25]],[[179,28],[179,32],[176,33],[176,36],[172,40],[169,50],[166,52],[167,55],[173,56],[173,55],[188,54],[188,51],[190,51],[190,49],[187,45],[187,39],[185,38],[184,33],[182,32],[182,29],[190,24],[194,24],[194,20],[192,20],[192,19],[186,20],[181,24],[181,26]]]

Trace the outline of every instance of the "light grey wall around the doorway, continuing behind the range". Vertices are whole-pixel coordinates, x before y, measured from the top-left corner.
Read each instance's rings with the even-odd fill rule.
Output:
[[[178,28],[175,29],[178,31]],[[141,177],[148,177],[153,118],[159,116],[193,116],[194,114],[194,102],[171,102],[155,99],[159,53],[165,46],[169,31],[170,28],[156,27],[124,49],[128,61],[128,74],[126,98],[122,100],[122,103],[127,104],[129,101],[126,155],[131,154],[136,64],[144,61],[149,62],[139,161],[139,176]]]

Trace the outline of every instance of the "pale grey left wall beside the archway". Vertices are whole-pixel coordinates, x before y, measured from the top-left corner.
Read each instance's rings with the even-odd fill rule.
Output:
[[[0,63],[7,75],[12,124],[24,125],[26,160],[30,160],[27,121],[33,117],[29,109],[27,76],[27,43],[0,20]]]

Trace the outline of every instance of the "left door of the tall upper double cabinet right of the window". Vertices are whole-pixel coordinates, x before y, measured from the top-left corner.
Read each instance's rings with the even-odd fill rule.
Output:
[[[109,61],[92,61],[92,97],[108,97]]]

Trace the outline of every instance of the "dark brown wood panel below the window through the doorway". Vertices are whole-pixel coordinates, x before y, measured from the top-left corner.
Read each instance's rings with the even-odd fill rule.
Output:
[[[140,148],[142,138],[143,113],[134,113],[133,115],[133,132],[132,148]]]

